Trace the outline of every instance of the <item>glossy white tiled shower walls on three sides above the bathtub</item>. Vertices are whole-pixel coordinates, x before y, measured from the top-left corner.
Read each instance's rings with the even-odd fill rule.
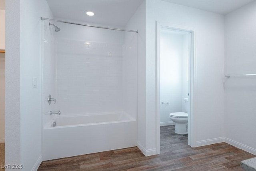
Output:
[[[137,34],[56,23],[44,28],[44,112],[137,116]],[[48,94],[56,104],[48,105]],[[44,124],[52,116],[44,115]]]

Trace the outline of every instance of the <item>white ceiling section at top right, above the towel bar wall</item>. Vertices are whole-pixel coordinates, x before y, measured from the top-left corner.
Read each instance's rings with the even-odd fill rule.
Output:
[[[228,14],[254,0],[162,0],[218,14]]]

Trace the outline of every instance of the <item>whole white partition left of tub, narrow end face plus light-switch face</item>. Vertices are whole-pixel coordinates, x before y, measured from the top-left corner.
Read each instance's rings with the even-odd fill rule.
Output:
[[[42,161],[40,16],[51,17],[45,0],[6,1],[5,161],[20,163],[24,170],[36,170]],[[32,77],[37,88],[32,88]]]

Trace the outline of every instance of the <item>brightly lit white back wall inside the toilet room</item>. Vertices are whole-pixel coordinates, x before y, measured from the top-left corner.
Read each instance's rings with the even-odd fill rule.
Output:
[[[183,35],[167,29],[160,35],[160,101],[169,102],[160,103],[160,124],[175,124],[169,114],[182,111]]]

